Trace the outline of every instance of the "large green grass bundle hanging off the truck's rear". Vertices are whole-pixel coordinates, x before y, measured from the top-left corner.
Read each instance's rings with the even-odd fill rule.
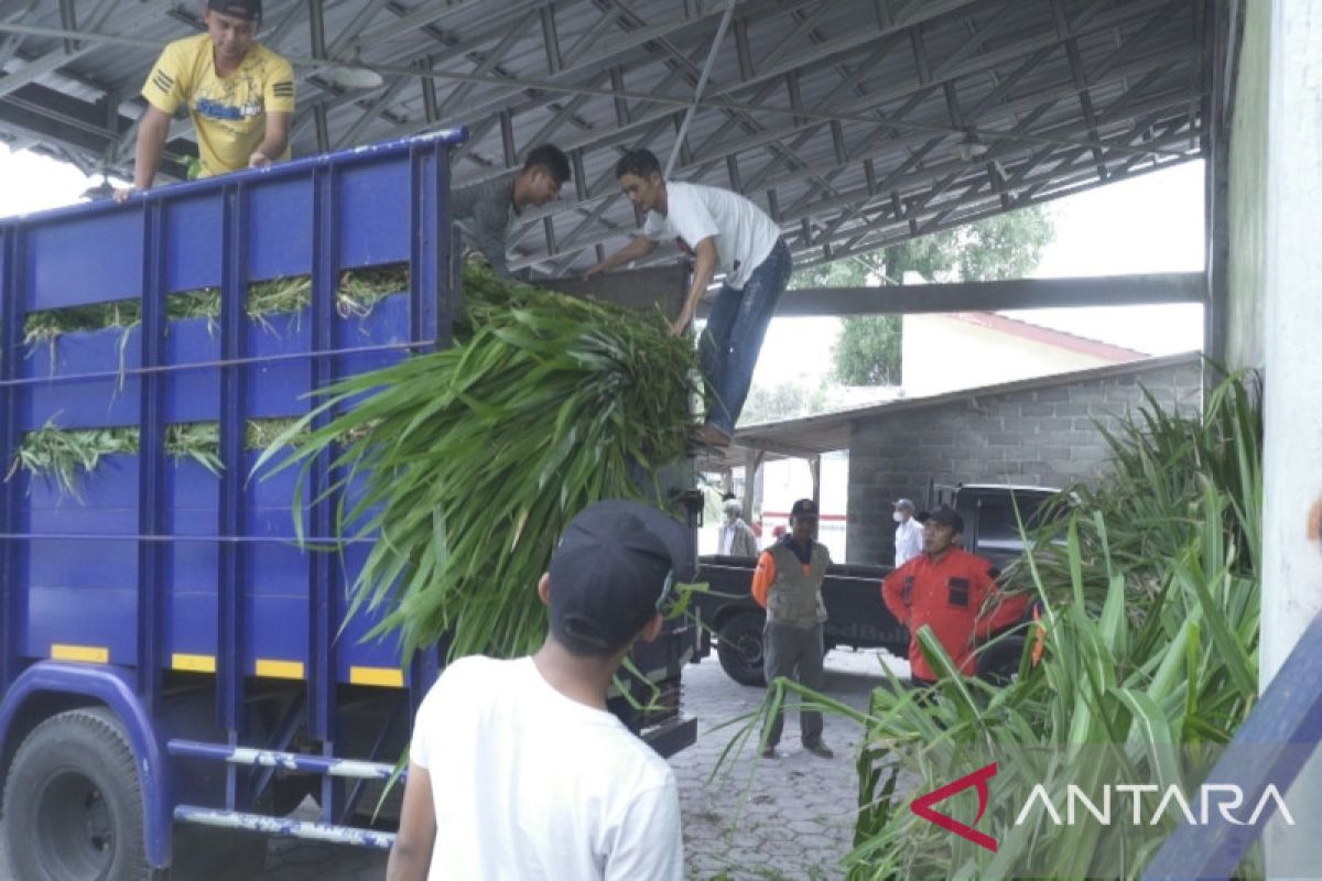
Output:
[[[340,382],[320,407],[332,421],[264,461],[300,469],[297,511],[330,450],[341,535],[374,540],[352,609],[383,610],[375,633],[401,631],[406,652],[447,638],[451,655],[513,655],[545,634],[534,585],[568,519],[657,493],[652,476],[683,457],[697,365],[660,312],[473,265],[464,297],[455,346]]]

